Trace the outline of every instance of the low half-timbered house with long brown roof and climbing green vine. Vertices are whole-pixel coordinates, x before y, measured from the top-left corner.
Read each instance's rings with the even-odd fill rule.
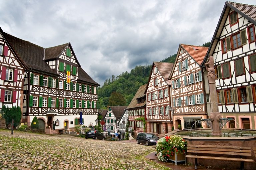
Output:
[[[146,132],[146,91],[147,84],[139,87],[138,91],[127,107],[129,129],[133,129],[135,135],[139,132]]]

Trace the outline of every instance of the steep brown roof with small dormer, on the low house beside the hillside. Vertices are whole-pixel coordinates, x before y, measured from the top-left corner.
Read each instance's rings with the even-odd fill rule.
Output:
[[[147,87],[147,84],[144,84],[144,85],[139,87],[139,89],[137,90],[136,94],[134,95],[132,101],[130,102],[129,106],[127,106],[126,109],[143,107],[143,106],[146,105],[146,100],[143,103],[139,103],[139,104],[138,104],[138,101],[137,101],[138,98],[141,98],[141,97],[145,96],[146,87]]]

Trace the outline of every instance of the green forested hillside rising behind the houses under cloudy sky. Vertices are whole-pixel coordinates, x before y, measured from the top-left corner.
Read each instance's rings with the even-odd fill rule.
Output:
[[[202,46],[209,46],[210,42]],[[174,63],[177,54],[173,54],[160,62]],[[143,84],[148,83],[148,77],[152,65],[136,66],[129,73],[126,71],[120,75],[112,75],[105,80],[102,87],[98,89],[99,109],[106,109],[107,106],[128,106]]]

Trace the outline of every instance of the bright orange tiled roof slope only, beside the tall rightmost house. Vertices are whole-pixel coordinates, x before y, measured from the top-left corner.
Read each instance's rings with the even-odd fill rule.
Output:
[[[194,60],[201,65],[203,62],[203,59],[208,51],[209,47],[205,46],[196,46],[196,45],[186,45],[181,44],[181,46],[189,53],[191,57],[194,58]]]

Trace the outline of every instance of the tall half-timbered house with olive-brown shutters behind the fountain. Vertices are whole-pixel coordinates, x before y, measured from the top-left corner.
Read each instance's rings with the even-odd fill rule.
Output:
[[[226,2],[202,63],[213,56],[226,128],[256,129],[256,6]],[[207,71],[205,71],[207,74]]]

